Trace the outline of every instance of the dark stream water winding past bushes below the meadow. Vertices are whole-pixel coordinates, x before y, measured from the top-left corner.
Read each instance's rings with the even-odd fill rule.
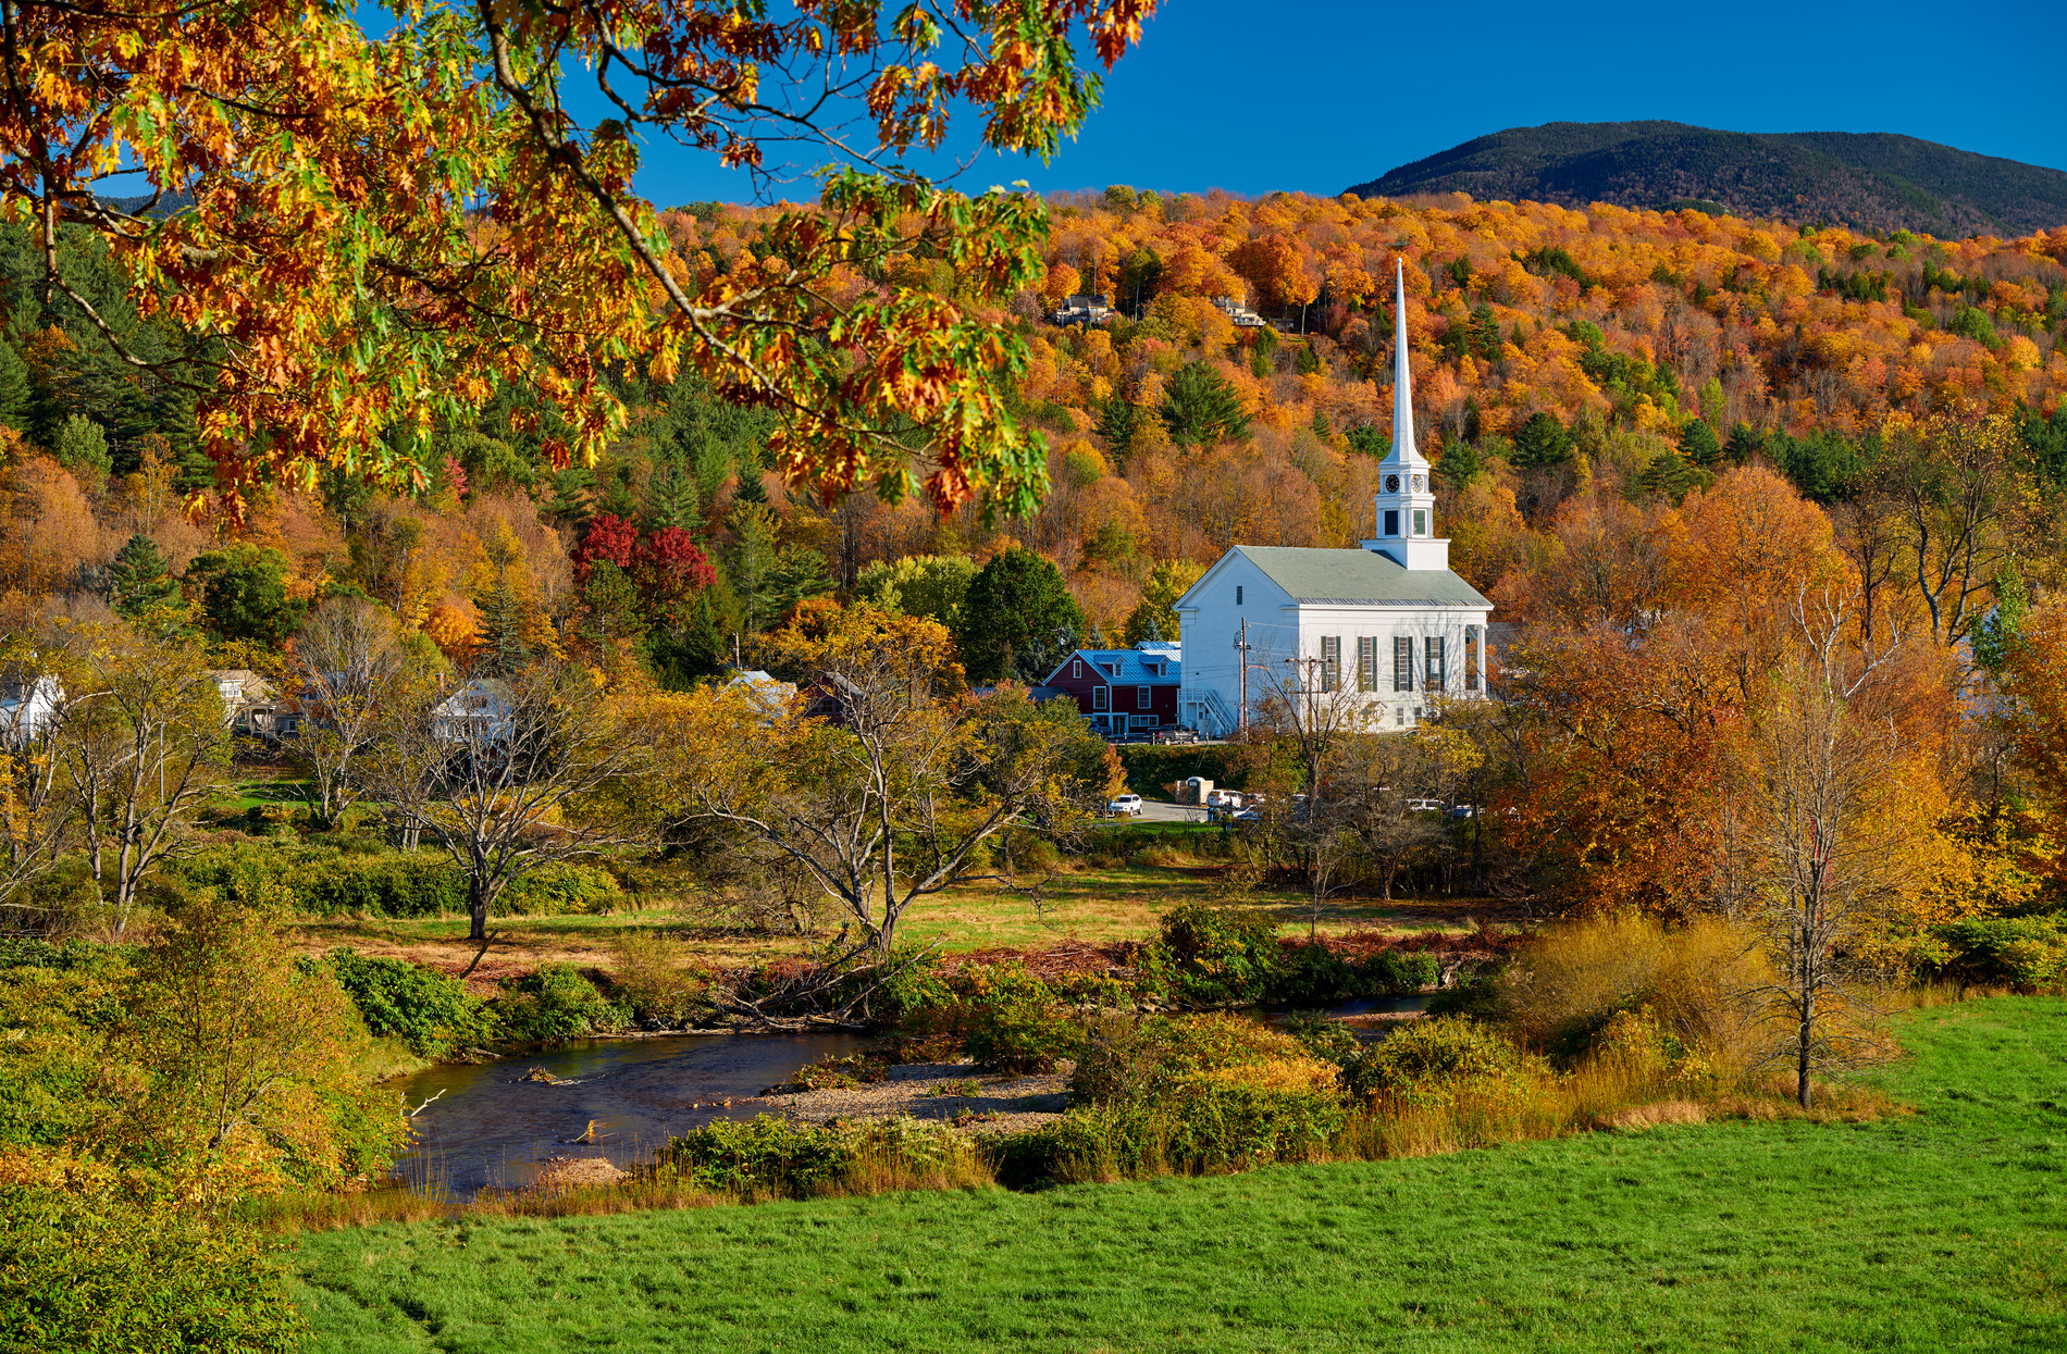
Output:
[[[1422,1011],[1428,996],[1372,996],[1329,1007],[1356,1017]],[[1257,1011],[1282,1023],[1284,1013]],[[1383,1027],[1366,1027],[1381,1038]],[[670,1034],[647,1040],[581,1040],[500,1063],[428,1067],[395,1087],[415,1108],[415,1145],[395,1166],[411,1189],[473,1195],[537,1184],[548,1158],[649,1160],[670,1137],[711,1122],[767,1112],[726,1108],[788,1081],[796,1069],[868,1046],[856,1034]],[[525,1081],[544,1069],[568,1085]],[[436,1096],[436,1100],[432,1100]],[[595,1120],[595,1143],[570,1143]]]

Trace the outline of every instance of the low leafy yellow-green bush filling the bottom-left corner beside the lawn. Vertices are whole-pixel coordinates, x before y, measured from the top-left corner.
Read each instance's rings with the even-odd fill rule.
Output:
[[[0,1189],[8,1350],[289,1352],[304,1321],[248,1230],[190,1207]]]

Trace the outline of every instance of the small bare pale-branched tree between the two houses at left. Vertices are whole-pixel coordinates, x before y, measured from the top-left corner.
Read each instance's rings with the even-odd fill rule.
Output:
[[[353,798],[351,763],[380,711],[403,697],[395,622],[362,597],[329,597],[294,637],[294,688],[302,701],[296,759],[316,783],[316,812],[331,821]]]

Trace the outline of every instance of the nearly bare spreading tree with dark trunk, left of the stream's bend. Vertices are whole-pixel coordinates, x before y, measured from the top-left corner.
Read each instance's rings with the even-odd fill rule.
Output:
[[[467,938],[486,947],[513,881],[645,837],[610,798],[645,767],[637,734],[587,672],[539,661],[506,680],[409,690],[376,719],[360,773],[399,833],[465,874]]]

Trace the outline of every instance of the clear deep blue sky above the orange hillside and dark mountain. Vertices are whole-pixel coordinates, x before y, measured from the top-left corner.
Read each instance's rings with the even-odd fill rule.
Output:
[[[2067,170],[2067,4],[1678,6],[1168,0],[1050,165],[967,186],[1341,192],[1509,126],[1670,118],[1740,132],[1904,132]],[[661,207],[750,194],[651,147]],[[812,196],[796,184],[779,196]]]

